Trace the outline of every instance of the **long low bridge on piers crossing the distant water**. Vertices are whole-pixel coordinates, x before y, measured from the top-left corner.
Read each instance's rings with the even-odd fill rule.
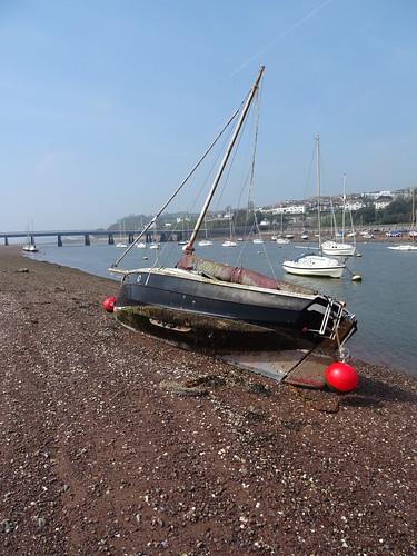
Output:
[[[176,240],[180,241],[179,236],[181,232],[176,234]],[[28,237],[29,236],[29,237]],[[29,241],[30,244],[36,244],[36,238],[48,238],[56,237],[58,247],[62,247],[62,238],[82,238],[85,245],[90,245],[91,237],[107,237],[107,242],[109,245],[115,244],[115,236],[120,238],[121,234],[117,230],[54,230],[54,231],[31,231],[29,235],[27,231],[3,231],[0,232],[0,240],[2,239],[4,245],[9,245],[10,239],[24,238],[22,242]],[[139,236],[138,231],[126,231],[123,236],[127,238],[129,244],[135,241],[135,237]],[[151,242],[153,237],[159,236],[159,241],[173,241],[172,234],[167,232],[151,232],[147,231],[143,235],[143,240],[146,242]]]

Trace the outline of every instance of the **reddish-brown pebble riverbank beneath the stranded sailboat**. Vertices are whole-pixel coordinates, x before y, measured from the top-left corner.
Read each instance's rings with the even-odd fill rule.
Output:
[[[120,328],[117,289],[0,247],[3,554],[416,553],[415,378],[350,360],[331,413]]]

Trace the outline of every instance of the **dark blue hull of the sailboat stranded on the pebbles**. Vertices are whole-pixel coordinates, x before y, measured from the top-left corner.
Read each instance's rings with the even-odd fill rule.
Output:
[[[325,296],[188,276],[149,270],[127,274],[116,318],[130,328],[210,353],[309,348],[326,340],[327,335],[319,334],[329,306]],[[334,320],[330,315],[329,330]]]

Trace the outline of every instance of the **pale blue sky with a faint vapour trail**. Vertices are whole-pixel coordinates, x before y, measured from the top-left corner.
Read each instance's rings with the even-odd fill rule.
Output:
[[[257,206],[417,179],[415,0],[0,0],[0,231],[155,214],[265,77]]]

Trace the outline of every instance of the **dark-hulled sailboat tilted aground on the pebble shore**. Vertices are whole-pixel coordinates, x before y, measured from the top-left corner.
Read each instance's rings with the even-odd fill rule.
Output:
[[[195,256],[198,232],[250,105],[258,96],[262,72],[264,67],[242,107],[220,168],[176,267],[119,270],[121,257],[109,269],[122,275],[115,305],[115,317],[122,325],[235,364],[236,354],[240,354],[241,361],[245,359],[242,354],[249,353],[275,354],[304,348],[305,357],[318,345],[334,350],[342,346],[357,326],[355,316],[345,309],[342,301],[242,267]],[[237,365],[250,367],[250,364]]]

